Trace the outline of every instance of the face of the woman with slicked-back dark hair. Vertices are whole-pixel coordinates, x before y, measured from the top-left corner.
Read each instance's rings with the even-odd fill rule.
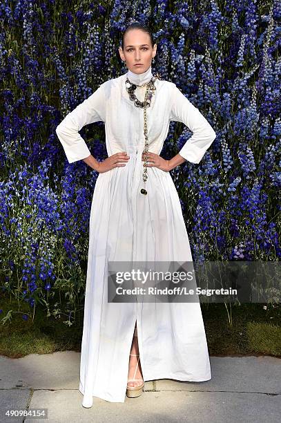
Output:
[[[124,37],[124,49],[119,47],[122,60],[126,60],[127,68],[134,73],[144,73],[151,66],[156,55],[157,45],[151,46],[151,37],[139,29],[129,30]],[[135,66],[140,63],[141,66]]]

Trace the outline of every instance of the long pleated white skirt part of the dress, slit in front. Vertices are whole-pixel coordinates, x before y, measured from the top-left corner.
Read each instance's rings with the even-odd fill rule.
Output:
[[[90,210],[79,391],[124,402],[135,322],[144,381],[211,379],[200,303],[108,302],[108,261],[192,261],[180,198],[169,172],[128,146],[124,167],[99,173]]]

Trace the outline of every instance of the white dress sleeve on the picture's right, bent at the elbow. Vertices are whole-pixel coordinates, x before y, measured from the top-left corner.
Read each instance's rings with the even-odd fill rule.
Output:
[[[215,131],[202,113],[193,106],[174,83],[172,84],[170,120],[184,123],[193,132],[179,154],[191,163],[199,163],[215,140]]]

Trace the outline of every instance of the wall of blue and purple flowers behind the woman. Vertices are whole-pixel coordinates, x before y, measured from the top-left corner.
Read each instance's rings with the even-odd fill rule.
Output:
[[[81,308],[97,172],[68,163],[55,128],[127,71],[117,48],[132,21],[153,30],[153,73],[217,134],[200,164],[171,171],[193,259],[278,261],[280,18],[278,0],[1,1],[0,289],[29,304],[24,318],[41,303],[70,325]],[[81,135],[106,158],[103,122]],[[190,136],[171,122],[162,156]]]

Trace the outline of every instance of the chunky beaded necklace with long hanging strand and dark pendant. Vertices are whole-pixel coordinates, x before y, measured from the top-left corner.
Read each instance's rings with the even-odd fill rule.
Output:
[[[144,145],[144,172],[142,174],[142,178],[144,181],[144,186],[146,186],[146,180],[147,180],[147,162],[148,162],[148,133],[147,133],[147,115],[146,115],[146,108],[151,106],[151,100],[155,93],[156,87],[155,87],[155,81],[159,78],[158,75],[153,75],[151,80],[149,82],[146,82],[146,84],[143,85],[136,85],[132,84],[128,77],[126,78],[125,84],[126,84],[126,90],[128,92],[130,100],[132,100],[136,107],[140,107],[144,109],[144,138],[145,138],[145,145]],[[144,95],[144,101],[140,102],[136,95],[135,95],[135,89],[137,86],[146,86],[146,93]],[[142,188],[141,193],[146,195],[147,190]]]

